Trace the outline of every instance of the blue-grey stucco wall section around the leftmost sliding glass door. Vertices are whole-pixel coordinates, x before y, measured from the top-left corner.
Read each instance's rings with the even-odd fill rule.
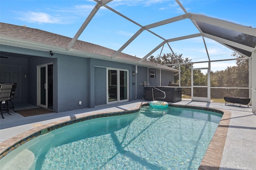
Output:
[[[53,111],[88,107],[88,59],[57,53],[53,57],[28,58],[28,103],[37,105],[37,65],[53,63]]]

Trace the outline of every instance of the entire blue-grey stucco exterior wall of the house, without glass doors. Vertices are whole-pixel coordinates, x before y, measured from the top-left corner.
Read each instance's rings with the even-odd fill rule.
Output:
[[[143,81],[148,81],[148,68],[128,63],[106,61],[102,59],[76,57],[54,53],[49,56],[47,51],[36,51],[1,45],[1,50],[9,53],[8,60],[1,58],[1,63],[22,64],[23,66],[23,103],[37,105],[37,66],[53,64],[53,111],[64,112],[83,108],[93,108],[106,104],[107,96],[107,68],[128,70],[129,97],[128,100],[144,98]],[[19,52],[22,55],[19,57]],[[54,52],[54,51],[53,51]],[[159,85],[159,73],[156,79],[149,79],[151,85]],[[24,77],[26,75],[26,77]],[[173,75],[164,71],[163,77]],[[168,81],[169,82],[169,78]],[[157,84],[158,83],[158,84]],[[79,101],[82,104],[79,105]]]

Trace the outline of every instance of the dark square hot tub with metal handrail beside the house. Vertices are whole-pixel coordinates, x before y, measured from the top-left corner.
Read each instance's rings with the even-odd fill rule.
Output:
[[[155,89],[155,88],[157,88],[157,89]],[[157,86],[155,88],[154,87],[144,87],[145,100],[149,100],[149,101],[154,100],[153,95],[152,95],[152,89],[153,89],[155,100],[161,100],[161,101],[172,102],[172,103],[181,101],[182,87]],[[162,97],[164,97],[164,93],[162,91],[164,91],[166,94],[165,99],[162,99]]]

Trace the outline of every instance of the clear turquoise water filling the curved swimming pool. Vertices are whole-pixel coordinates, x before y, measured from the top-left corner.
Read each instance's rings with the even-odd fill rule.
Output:
[[[0,160],[3,169],[198,169],[222,115],[142,107],[38,136]],[[27,164],[24,164],[27,162]]]

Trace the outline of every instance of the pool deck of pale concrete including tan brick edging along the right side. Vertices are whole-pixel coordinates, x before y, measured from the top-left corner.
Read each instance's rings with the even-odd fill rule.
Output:
[[[4,113],[0,118],[0,152],[12,146],[22,135],[31,133],[42,127],[47,127],[74,117],[84,117],[112,111],[131,111],[138,109],[142,103],[149,101],[134,100],[115,103],[62,113],[48,113],[31,117],[22,117],[14,111],[12,115]],[[209,170],[256,170],[256,115],[252,108],[246,105],[224,103],[205,103],[182,100],[173,105],[210,107],[224,111],[224,115],[206,151],[199,169]],[[16,110],[30,109],[34,106],[16,106]]]

